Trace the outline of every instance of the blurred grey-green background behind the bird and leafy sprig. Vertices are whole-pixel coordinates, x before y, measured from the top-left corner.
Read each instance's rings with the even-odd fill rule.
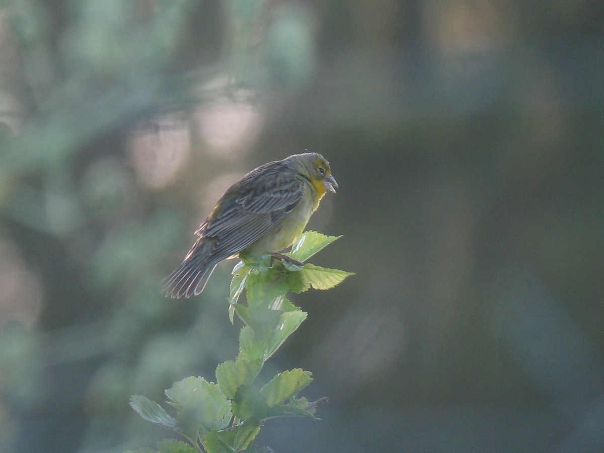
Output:
[[[321,421],[276,452],[604,451],[604,3],[0,2],[0,451],[121,452],[237,353],[236,261],[159,293],[220,194],[305,149],[338,180],[292,297]]]

